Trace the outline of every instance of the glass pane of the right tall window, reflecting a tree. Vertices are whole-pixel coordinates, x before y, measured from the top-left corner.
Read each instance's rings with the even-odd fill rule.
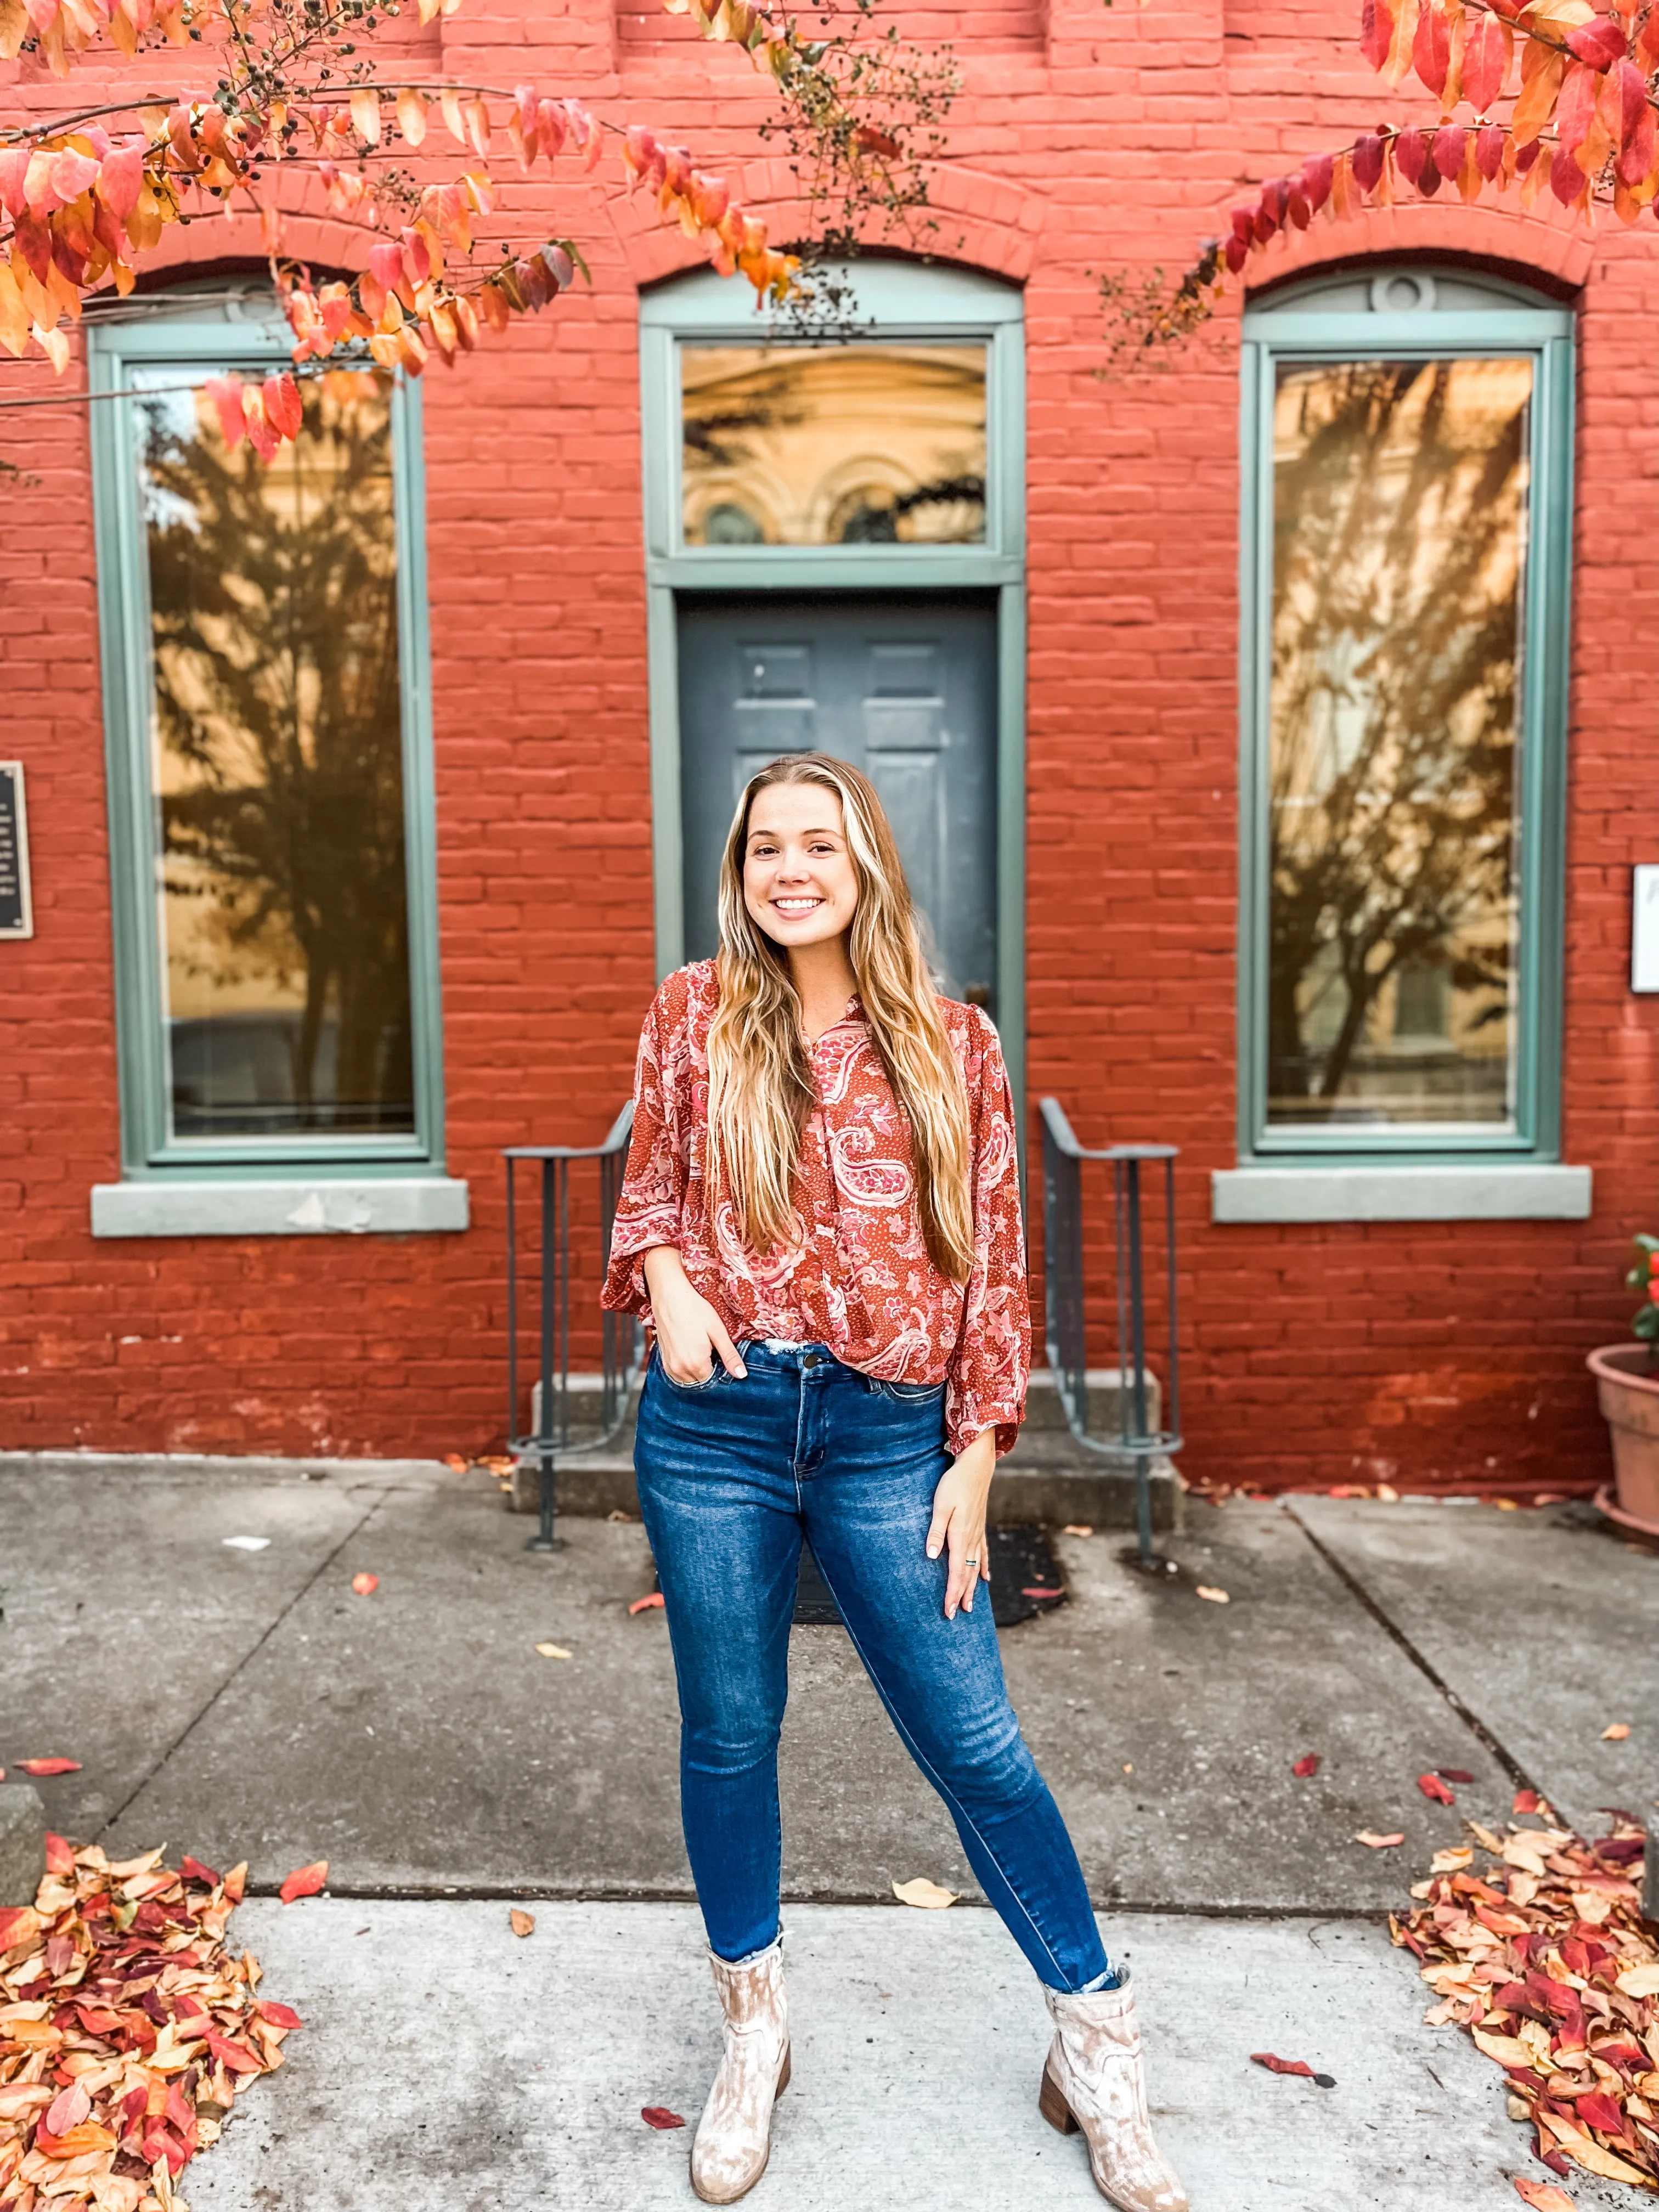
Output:
[[[1531,363],[1281,365],[1270,1121],[1513,1115]]]

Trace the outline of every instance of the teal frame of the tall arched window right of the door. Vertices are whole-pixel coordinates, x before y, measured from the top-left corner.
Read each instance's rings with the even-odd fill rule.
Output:
[[[1411,270],[1367,268],[1252,305],[1241,361],[1239,535],[1239,1164],[1455,1166],[1562,1157],[1562,958],[1566,699],[1573,566],[1575,319],[1491,276],[1425,268],[1429,305],[1394,307]],[[1436,292],[1438,283],[1438,292]],[[1267,1128],[1267,854],[1274,562],[1274,385],[1279,363],[1533,361],[1526,630],[1520,763],[1520,975],[1513,1126]]]

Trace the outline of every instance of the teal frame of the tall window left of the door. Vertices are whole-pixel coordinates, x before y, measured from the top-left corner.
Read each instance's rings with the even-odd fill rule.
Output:
[[[411,1133],[352,1137],[221,1137],[179,1141],[168,1126],[166,1009],[157,909],[157,810],[150,774],[148,564],[139,518],[137,409],[115,396],[133,369],[270,372],[292,361],[292,334],[265,296],[226,294],[88,332],[93,520],[104,677],[104,745],[115,929],[115,1029],[122,1088],[122,1179],[190,1183],[442,1177],[442,1009],[438,991],[438,854],[427,639],[420,387],[392,392],[398,675],[403,701],[403,834],[409,887]]]

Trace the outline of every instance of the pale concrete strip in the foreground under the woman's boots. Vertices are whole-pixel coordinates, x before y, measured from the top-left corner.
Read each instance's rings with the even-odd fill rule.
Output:
[[[719,2051],[697,1911],[257,1902],[237,1927],[307,2022],[190,2168],[195,2212],[690,2212],[686,2132]],[[1502,2212],[1540,2174],[1502,2077],[1425,2028],[1387,1933],[1135,1920],[1152,2110],[1194,2212]],[[794,2079],[757,2212],[1099,2208],[1037,2115],[1046,2013],[989,1911],[787,1916]],[[1307,2057],[1336,2088],[1274,2077]],[[1582,2205],[1628,2192],[1588,2183]]]

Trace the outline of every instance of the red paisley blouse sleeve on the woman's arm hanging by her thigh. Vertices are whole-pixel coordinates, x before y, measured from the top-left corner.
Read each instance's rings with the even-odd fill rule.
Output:
[[[998,1458],[1013,1451],[1031,1380],[1031,1303],[1026,1239],[1020,1221],[1020,1155],[1013,1093],[998,1033],[973,1013],[967,1055],[969,1179],[973,1272],[962,1303],[962,1334],[949,1367],[945,1420],[951,1451],[995,1429]]]

